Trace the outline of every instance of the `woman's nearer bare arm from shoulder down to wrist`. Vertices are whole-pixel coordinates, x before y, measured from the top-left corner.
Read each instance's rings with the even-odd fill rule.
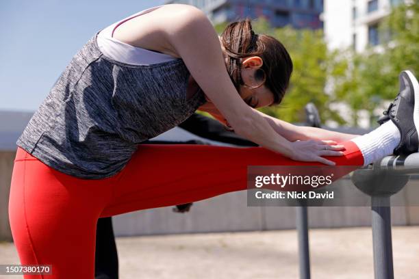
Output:
[[[207,16],[188,6],[166,21],[170,21],[165,28],[168,41],[236,133],[260,146],[291,155],[290,142],[275,133],[268,122],[240,98],[225,67],[216,31]]]

